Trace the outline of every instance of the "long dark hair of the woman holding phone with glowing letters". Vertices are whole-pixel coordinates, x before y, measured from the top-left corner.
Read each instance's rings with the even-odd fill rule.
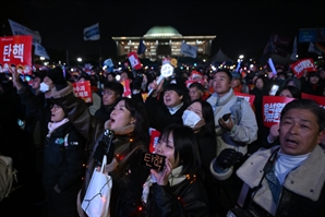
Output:
[[[173,157],[183,166],[180,176],[202,174],[198,146],[193,130],[186,125],[171,124],[162,130],[159,140],[167,141],[170,134],[173,140]]]

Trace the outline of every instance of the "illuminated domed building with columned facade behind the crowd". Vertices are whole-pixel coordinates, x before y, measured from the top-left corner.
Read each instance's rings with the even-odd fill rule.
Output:
[[[112,37],[117,45],[117,55],[120,57],[137,51],[141,38],[146,46],[143,58],[156,61],[166,56],[183,56],[181,55],[182,43],[197,47],[197,56],[209,56],[212,41],[216,36],[182,36],[171,26],[154,26],[142,37]]]

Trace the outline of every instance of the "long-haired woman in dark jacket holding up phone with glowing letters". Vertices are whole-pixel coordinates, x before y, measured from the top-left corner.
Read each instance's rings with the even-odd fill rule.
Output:
[[[161,172],[152,169],[144,184],[144,216],[207,216],[208,202],[192,129],[167,126],[155,153],[165,156],[166,164]]]

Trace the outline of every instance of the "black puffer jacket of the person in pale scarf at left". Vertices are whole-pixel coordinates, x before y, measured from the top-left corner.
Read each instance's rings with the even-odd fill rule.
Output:
[[[65,143],[64,138],[68,140]],[[51,190],[57,185],[64,192],[73,185],[81,185],[85,172],[83,165],[86,140],[71,122],[62,124],[45,140],[43,176],[45,189]]]

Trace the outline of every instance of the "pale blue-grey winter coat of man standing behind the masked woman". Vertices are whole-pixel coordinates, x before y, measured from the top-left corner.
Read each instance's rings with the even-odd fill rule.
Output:
[[[257,123],[253,109],[244,99],[239,100],[230,89],[222,97],[213,94],[207,100],[214,109],[217,133],[217,155],[227,147],[246,154],[248,144],[257,140]],[[230,132],[219,125],[219,118],[231,112],[233,128]]]

